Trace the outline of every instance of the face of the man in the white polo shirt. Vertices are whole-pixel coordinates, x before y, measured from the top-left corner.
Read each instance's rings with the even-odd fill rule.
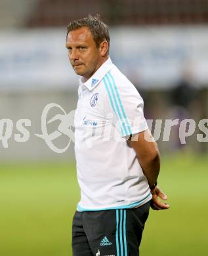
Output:
[[[101,66],[103,56],[96,47],[93,36],[87,27],[68,33],[66,38],[68,56],[77,75],[89,79]]]

